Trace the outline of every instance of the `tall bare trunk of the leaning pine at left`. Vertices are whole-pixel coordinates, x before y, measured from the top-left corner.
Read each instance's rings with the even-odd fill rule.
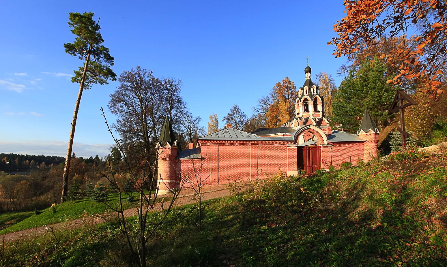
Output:
[[[73,112],[72,129],[70,130],[70,137],[68,138],[67,156],[65,157],[65,165],[63,167],[62,194],[60,197],[60,203],[63,203],[63,201],[65,200],[64,198],[67,196],[68,192],[68,172],[70,171],[70,163],[72,160],[72,148],[73,148],[73,140],[75,138],[76,120],[78,118],[79,104],[81,101],[82,92],[84,91],[85,75],[87,74],[87,67],[89,65],[89,62],[90,62],[90,49],[87,58],[85,59],[84,71],[82,71],[78,98],[76,99],[75,111]]]

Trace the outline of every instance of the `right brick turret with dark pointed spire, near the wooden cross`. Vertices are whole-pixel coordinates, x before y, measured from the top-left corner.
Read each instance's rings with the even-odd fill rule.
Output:
[[[371,114],[365,107],[363,112],[362,122],[360,128],[357,131],[359,138],[366,140],[363,144],[364,149],[364,161],[368,162],[371,159],[377,157],[377,142],[379,142],[379,130],[372,120]]]

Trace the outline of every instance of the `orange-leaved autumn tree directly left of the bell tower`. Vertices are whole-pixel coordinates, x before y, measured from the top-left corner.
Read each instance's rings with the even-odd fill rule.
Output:
[[[266,126],[275,128],[295,117],[295,100],[298,97],[295,83],[289,77],[276,83],[272,89],[276,100],[270,104],[266,113]]]

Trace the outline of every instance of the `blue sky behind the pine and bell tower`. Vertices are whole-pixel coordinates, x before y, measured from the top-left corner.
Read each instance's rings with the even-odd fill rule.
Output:
[[[4,1],[0,0],[0,152],[65,155],[78,84],[70,77],[81,62],[65,53],[74,36],[69,12],[101,17],[105,46],[119,75],[137,65],[156,76],[182,79],[194,115],[234,104],[250,116],[257,99],[289,76],[337,68],[327,42],[344,17],[343,1]],[[99,109],[118,82],[84,91],[73,151],[107,154],[112,143]],[[114,120],[109,114],[108,119]]]

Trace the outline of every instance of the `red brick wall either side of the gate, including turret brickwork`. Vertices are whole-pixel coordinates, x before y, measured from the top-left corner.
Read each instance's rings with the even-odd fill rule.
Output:
[[[319,137],[319,135],[317,135]],[[320,137],[319,137],[320,138]],[[321,167],[340,167],[346,161],[357,165],[358,158],[369,160],[370,154],[377,155],[377,136],[365,134],[367,142],[336,142],[321,144]],[[164,183],[160,189],[175,188],[181,177],[193,179],[197,176],[202,185],[226,184],[228,180],[245,181],[266,178],[278,171],[297,171],[297,146],[291,141],[220,141],[201,140],[202,159],[175,159],[177,148],[162,147],[158,161],[158,173]],[[320,143],[319,140],[318,143]],[[159,177],[160,178],[160,177]],[[185,184],[190,187],[191,184]]]

